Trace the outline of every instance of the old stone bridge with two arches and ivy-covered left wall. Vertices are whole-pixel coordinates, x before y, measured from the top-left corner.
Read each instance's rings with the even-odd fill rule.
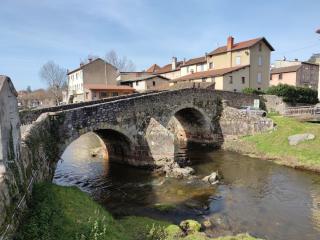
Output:
[[[21,113],[21,141],[19,117],[14,118],[14,125],[5,122],[11,157],[4,158],[4,177],[0,176],[0,216],[4,216],[0,239],[15,228],[33,184],[52,179],[61,154],[79,136],[95,132],[110,159],[154,168],[164,160],[174,160],[178,145],[194,142],[218,148],[225,134],[270,129],[269,120],[234,113],[222,104],[224,99],[233,107],[252,105],[254,98],[190,88]],[[230,114],[229,108],[233,109]]]

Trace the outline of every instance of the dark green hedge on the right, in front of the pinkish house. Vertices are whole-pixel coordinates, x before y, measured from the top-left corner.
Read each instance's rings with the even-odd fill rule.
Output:
[[[283,98],[283,101],[290,103],[318,103],[318,91],[305,87],[294,87],[287,84],[279,84],[269,87],[267,94],[276,95]]]

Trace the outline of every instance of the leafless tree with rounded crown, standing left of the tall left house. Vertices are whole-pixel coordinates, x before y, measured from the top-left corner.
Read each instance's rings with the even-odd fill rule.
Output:
[[[67,70],[53,61],[44,64],[40,69],[40,78],[47,84],[56,104],[61,101],[61,93],[66,86]]]

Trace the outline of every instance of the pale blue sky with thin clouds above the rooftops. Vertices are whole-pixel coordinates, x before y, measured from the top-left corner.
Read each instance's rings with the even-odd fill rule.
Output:
[[[73,69],[114,49],[142,70],[264,36],[272,60],[320,52],[319,0],[0,0],[0,74],[17,89],[45,87],[48,60]]]

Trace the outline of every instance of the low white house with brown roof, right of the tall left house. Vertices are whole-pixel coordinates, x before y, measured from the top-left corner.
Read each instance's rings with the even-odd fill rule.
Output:
[[[169,80],[161,75],[144,75],[122,80],[121,85],[133,87],[137,92],[146,92],[169,87]]]

